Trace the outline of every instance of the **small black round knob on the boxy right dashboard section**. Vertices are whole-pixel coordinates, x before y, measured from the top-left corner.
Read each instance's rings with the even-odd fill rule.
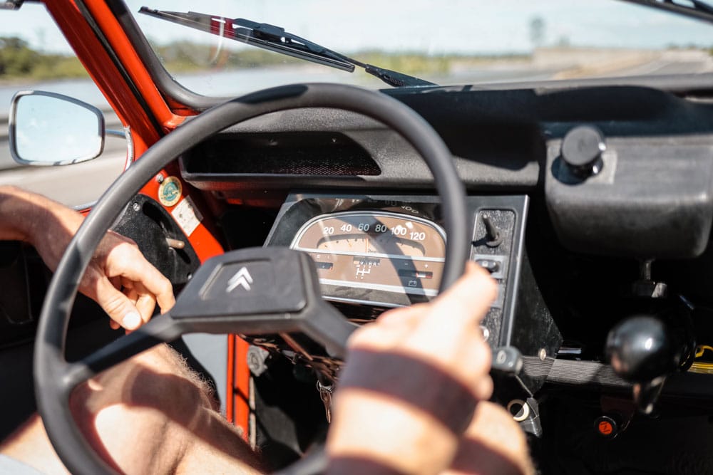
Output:
[[[605,150],[604,135],[597,127],[579,125],[565,135],[561,155],[570,172],[585,179],[602,170],[602,152]]]

